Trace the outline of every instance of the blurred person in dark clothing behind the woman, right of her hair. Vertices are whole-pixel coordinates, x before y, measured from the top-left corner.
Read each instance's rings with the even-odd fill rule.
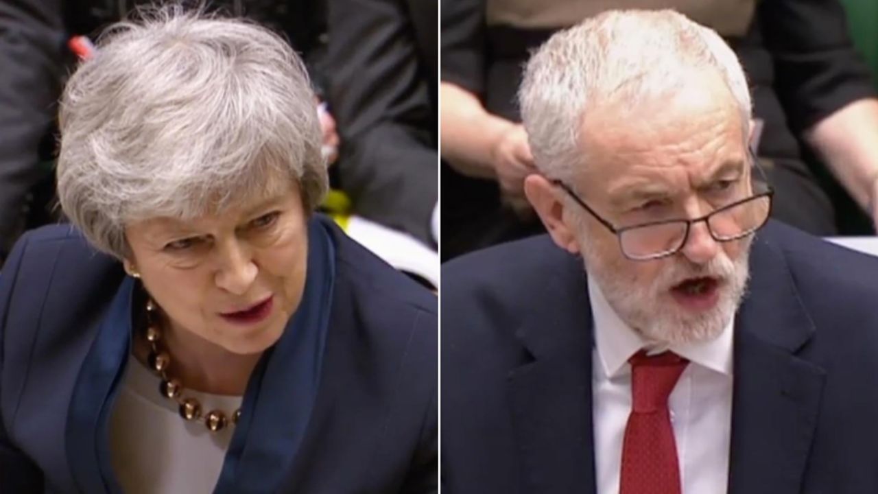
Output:
[[[353,211],[435,248],[436,0],[332,0],[328,98],[342,135],[338,179]]]

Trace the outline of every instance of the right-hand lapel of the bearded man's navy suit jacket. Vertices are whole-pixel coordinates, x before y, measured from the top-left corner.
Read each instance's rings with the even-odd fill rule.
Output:
[[[796,357],[814,332],[785,258],[758,238],[737,319],[731,494],[801,490],[824,370]]]

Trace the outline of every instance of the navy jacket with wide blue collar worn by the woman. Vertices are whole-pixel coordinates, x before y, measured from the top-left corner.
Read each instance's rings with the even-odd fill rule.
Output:
[[[132,287],[69,226],[13,250],[0,274],[0,492],[120,491],[108,421]],[[435,296],[313,218],[302,305],[248,383],[215,492],[435,492],[436,324]]]

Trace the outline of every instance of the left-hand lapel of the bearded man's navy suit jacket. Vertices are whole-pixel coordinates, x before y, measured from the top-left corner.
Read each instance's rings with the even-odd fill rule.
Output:
[[[579,261],[565,258],[516,334],[533,361],[507,396],[522,492],[594,492],[591,309]]]

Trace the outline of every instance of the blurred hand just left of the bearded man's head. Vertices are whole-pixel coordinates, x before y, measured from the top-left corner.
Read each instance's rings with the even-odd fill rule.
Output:
[[[530,154],[528,134],[521,124],[510,127],[491,150],[494,171],[503,200],[516,212],[530,210],[524,197],[524,178],[536,172],[534,156]]]

